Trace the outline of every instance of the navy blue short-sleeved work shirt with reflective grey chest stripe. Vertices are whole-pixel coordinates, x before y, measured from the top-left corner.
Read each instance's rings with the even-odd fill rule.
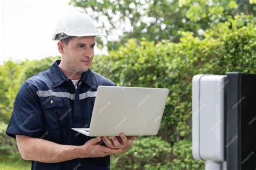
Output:
[[[65,76],[57,60],[50,69],[26,80],[19,89],[6,130],[12,138],[26,135],[62,145],[84,145],[87,137],[72,127],[89,127],[97,88],[115,84],[90,69],[83,73],[77,89]],[[100,125],[99,125],[100,126]],[[57,163],[32,161],[32,169],[110,169],[110,156]]]

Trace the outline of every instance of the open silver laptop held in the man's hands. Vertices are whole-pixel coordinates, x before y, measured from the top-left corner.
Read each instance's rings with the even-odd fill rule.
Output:
[[[72,128],[90,137],[156,135],[169,89],[99,86],[90,128]]]

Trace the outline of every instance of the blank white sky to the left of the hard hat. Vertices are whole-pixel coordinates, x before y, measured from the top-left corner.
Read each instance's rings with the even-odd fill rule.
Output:
[[[52,40],[69,0],[0,0],[0,64],[4,61],[60,56]],[[95,53],[100,51],[95,49]]]

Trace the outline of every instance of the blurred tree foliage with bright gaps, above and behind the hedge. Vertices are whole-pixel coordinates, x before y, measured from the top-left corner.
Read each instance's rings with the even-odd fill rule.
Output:
[[[99,30],[110,35],[109,49],[117,49],[130,38],[140,41],[144,37],[156,43],[179,42],[178,31],[190,31],[197,36],[241,12],[255,16],[256,6],[251,3],[233,0],[70,1],[71,5],[86,9],[98,21]]]

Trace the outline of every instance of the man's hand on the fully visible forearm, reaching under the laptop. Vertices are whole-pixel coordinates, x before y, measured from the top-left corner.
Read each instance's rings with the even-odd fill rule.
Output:
[[[81,147],[81,157],[82,158],[95,158],[95,157],[105,157],[107,155],[112,155],[116,153],[121,153],[122,149],[112,149],[106,146],[100,145],[100,141],[103,137],[96,137],[88,140]]]

